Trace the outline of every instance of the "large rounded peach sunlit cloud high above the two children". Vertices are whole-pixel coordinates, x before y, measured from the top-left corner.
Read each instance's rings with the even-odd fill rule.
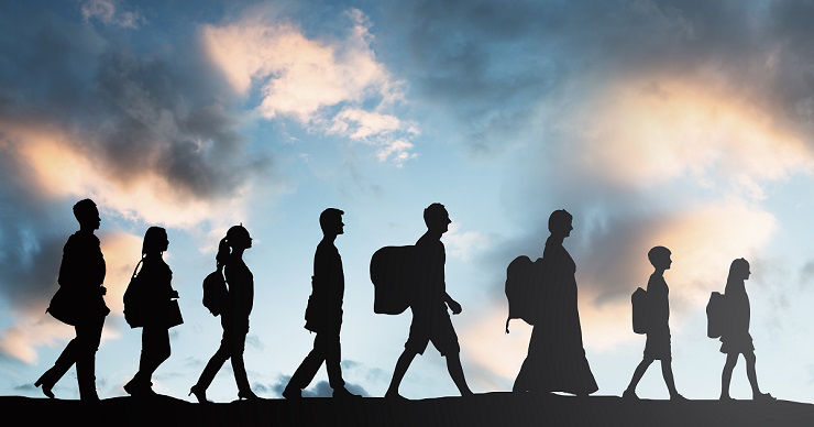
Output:
[[[565,129],[579,141],[573,162],[597,178],[652,189],[689,176],[760,199],[761,182],[814,171],[803,138],[732,91],[659,76],[609,86]]]

